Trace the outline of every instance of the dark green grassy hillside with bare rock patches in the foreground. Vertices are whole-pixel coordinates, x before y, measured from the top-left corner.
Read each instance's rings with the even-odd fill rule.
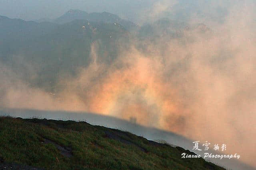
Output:
[[[222,169],[183,152],[86,122],[0,118],[0,168]]]

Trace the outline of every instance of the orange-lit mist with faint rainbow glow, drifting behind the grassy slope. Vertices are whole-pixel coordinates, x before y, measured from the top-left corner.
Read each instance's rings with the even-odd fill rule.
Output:
[[[148,1],[134,21],[153,24],[174,14],[182,3]],[[181,17],[189,28],[181,28],[174,38],[164,31],[148,39],[139,39],[134,33],[111,63],[100,59],[100,42],[92,43],[90,64],[77,68],[76,76],[60,75],[56,86],[61,88],[54,95],[31,86],[14,68],[0,63],[0,107],[136,118],[139,125],[202,143],[210,141],[212,146],[226,144],[227,153],[239,153],[242,162],[256,167],[256,4],[249,0],[230,4],[202,1],[200,15],[185,10],[187,15],[182,18],[176,12],[171,19]],[[70,6],[63,11],[66,8]],[[101,8],[111,12],[104,5]],[[143,15],[147,12],[150,15]],[[23,16],[32,19],[28,14]],[[36,68],[26,65],[29,78],[40,76],[34,72]]]

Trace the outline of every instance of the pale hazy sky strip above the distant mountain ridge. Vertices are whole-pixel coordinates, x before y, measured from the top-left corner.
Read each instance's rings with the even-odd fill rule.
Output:
[[[23,20],[54,19],[70,9],[110,12],[141,22],[168,16],[184,19],[196,14],[211,20],[223,18],[235,1],[225,0],[0,0],[0,15]],[[248,0],[250,1],[250,0]],[[236,1],[237,2],[237,1]]]

